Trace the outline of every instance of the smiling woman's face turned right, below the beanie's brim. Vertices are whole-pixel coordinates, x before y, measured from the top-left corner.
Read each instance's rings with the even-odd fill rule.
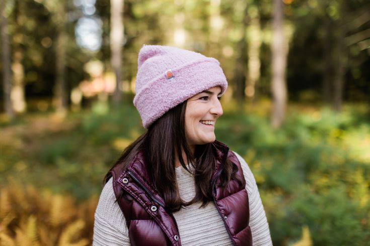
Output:
[[[186,103],[185,131],[189,145],[203,145],[214,142],[214,124],[223,114],[219,102],[221,88],[215,86],[190,97]]]

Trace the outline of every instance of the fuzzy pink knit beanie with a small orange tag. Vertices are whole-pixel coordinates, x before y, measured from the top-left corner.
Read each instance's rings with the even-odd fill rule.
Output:
[[[171,108],[217,85],[222,94],[228,87],[216,59],[175,47],[144,45],[137,60],[133,104],[142,125],[149,128]]]

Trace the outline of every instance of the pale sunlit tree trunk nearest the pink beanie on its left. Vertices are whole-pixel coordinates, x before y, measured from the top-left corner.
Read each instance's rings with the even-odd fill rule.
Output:
[[[123,44],[123,6],[124,0],[111,0],[111,66],[116,76],[116,88],[113,93],[113,101],[118,104],[122,100],[120,83],[122,79],[122,44]]]

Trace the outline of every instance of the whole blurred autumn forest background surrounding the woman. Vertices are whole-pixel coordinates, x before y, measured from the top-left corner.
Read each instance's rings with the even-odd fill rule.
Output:
[[[274,245],[370,245],[370,2],[2,0],[0,245],[88,245],[102,180],[144,132],[137,52],[215,57],[217,139]]]

